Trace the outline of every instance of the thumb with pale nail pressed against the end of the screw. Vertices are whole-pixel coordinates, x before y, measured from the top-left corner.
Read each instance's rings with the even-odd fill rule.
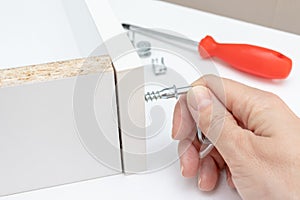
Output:
[[[187,94],[187,104],[198,128],[223,158],[236,157],[237,152],[240,152],[237,145],[240,146],[241,140],[247,142],[249,133],[238,126],[235,118],[216,96],[206,87],[195,86]]]

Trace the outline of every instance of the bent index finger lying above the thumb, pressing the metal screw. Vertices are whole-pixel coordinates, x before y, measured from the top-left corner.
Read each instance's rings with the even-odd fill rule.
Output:
[[[276,95],[229,79],[207,75],[197,80],[193,85],[209,88],[211,93],[244,127],[251,131],[256,130],[254,133],[258,135],[262,132],[266,133],[262,130],[269,128],[269,126],[275,130],[280,128],[276,124],[289,123],[297,119],[297,116]],[[270,132],[279,132],[274,130]]]

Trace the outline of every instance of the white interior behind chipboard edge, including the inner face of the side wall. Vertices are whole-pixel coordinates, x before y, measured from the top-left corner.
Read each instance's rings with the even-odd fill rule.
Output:
[[[0,1],[0,68],[90,55],[102,40],[82,3],[83,0]]]

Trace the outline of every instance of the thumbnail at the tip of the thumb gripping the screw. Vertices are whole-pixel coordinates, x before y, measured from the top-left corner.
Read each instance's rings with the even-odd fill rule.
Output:
[[[202,111],[212,103],[209,90],[203,86],[193,87],[187,94],[187,103],[194,119],[198,118],[199,111]]]

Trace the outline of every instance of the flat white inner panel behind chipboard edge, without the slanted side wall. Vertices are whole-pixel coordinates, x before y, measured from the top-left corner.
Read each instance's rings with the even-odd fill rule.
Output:
[[[34,5],[40,9],[32,9]],[[1,1],[0,24],[1,68],[80,56],[60,0]]]

